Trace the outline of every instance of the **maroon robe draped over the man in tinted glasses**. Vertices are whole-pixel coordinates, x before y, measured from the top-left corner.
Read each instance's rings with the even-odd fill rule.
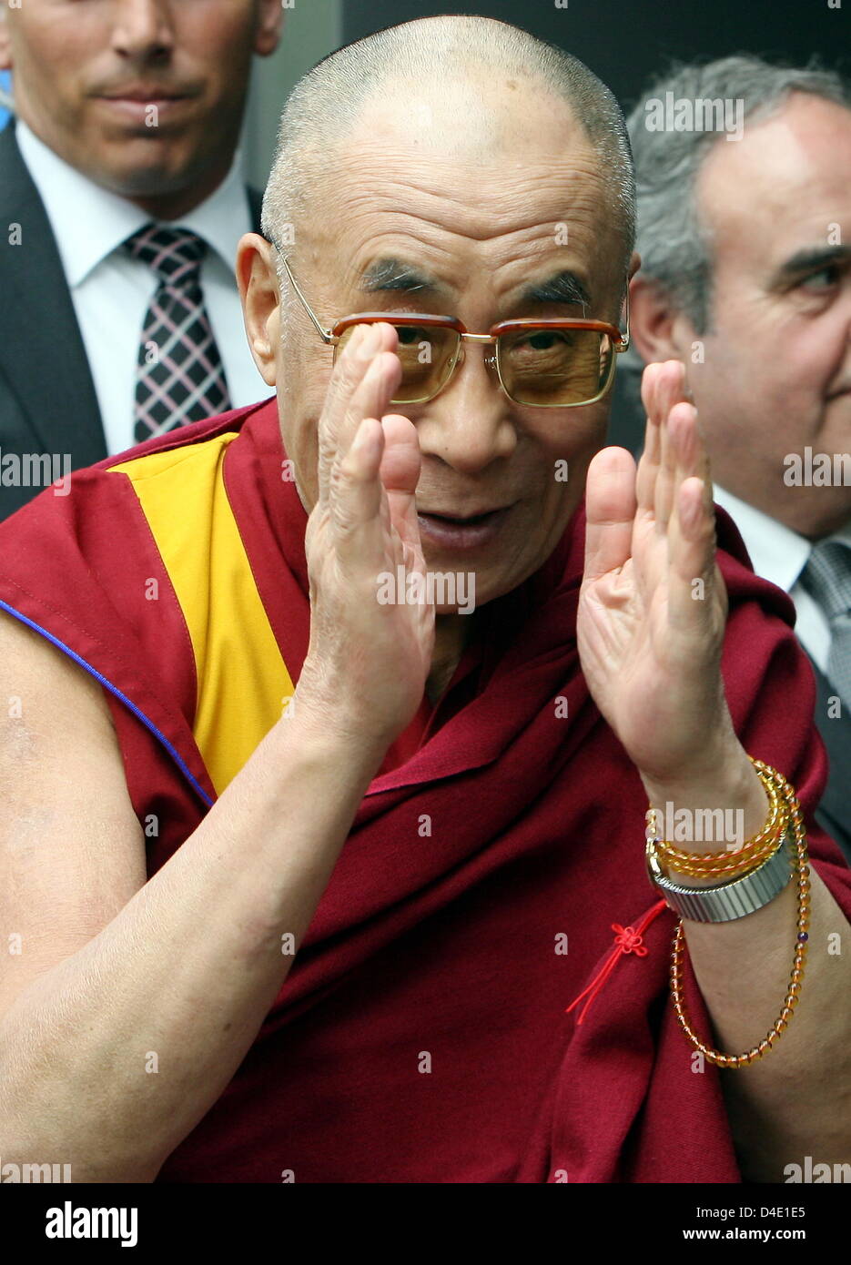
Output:
[[[239,431],[225,484],[297,679],[306,517],[279,478],[274,401],[134,455],[220,430]],[[150,875],[215,791],[192,735],[186,626],[129,482],[105,473],[119,460],[76,473],[70,496],[48,490],[0,525],[0,607],[102,681],[135,812],[161,822]],[[847,916],[851,870],[812,817],[826,758],[792,602],[754,576],[722,511],[718,544],[736,732],[795,787],[813,865]],[[719,1073],[694,1070],[668,996],[677,918],[645,872],[646,796],[579,664],[583,546],[580,509],[541,571],[478,612],[481,634],[445,696],[370,784],[258,1039],[158,1180],[741,1180]],[[156,603],[144,600],[152,576]],[[650,912],[647,951],[620,956],[578,1023],[565,1007],[608,960],[613,925]],[[712,1040],[690,965],[687,998]]]

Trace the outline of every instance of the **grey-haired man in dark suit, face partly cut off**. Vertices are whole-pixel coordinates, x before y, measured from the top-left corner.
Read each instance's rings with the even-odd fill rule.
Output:
[[[666,101],[725,109],[714,130],[658,128]],[[795,605],[831,762],[819,820],[851,861],[851,86],[755,57],[687,66],[630,135],[634,345],[685,364],[716,501]]]

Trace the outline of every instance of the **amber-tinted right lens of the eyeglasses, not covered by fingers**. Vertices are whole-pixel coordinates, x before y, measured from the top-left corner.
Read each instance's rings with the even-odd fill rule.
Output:
[[[607,387],[615,349],[593,329],[523,329],[497,344],[503,386],[517,404],[587,404]]]

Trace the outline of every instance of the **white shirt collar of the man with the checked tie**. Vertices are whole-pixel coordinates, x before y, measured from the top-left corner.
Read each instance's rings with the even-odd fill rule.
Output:
[[[101,188],[59,158],[27,124],[15,121],[15,138],[51,221],[68,286],[73,290],[132,233],[150,221],[126,197]],[[70,207],[72,213],[70,214]],[[233,272],[236,243],[253,224],[242,173],[242,153],[204,202],[178,220],[161,221],[202,237]]]

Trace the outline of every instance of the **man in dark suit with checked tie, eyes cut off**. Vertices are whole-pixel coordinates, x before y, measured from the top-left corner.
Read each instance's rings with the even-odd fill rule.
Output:
[[[238,142],[279,0],[3,9],[0,517],[71,469],[268,388],[233,263]]]

